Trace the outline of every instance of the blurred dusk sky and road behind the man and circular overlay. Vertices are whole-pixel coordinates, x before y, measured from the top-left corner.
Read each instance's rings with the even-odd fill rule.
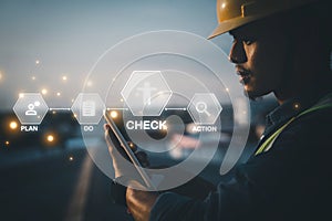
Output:
[[[155,30],[206,38],[217,25],[215,6],[215,0],[0,0],[0,220],[131,220],[112,203],[111,180],[91,160],[72,112],[56,108],[72,106],[90,69],[112,45]],[[214,43],[227,53],[230,38]],[[12,110],[22,93],[41,93],[54,108],[38,131],[21,131]],[[250,103],[248,147],[239,162],[252,152],[263,116],[274,106],[271,97]],[[201,172],[215,183],[232,129],[232,107],[222,113],[228,127],[219,131],[220,151]],[[152,164],[176,162],[195,144],[188,113],[172,114],[186,123],[184,148]],[[114,115],[121,125],[122,116]]]

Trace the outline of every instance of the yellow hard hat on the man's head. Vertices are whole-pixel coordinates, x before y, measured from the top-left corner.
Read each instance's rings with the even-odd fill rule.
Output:
[[[261,18],[315,1],[319,0],[218,0],[217,17],[219,24],[208,39]]]

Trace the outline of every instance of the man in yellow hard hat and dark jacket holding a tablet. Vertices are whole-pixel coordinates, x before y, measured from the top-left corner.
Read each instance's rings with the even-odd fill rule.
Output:
[[[331,3],[220,0],[210,38],[234,36],[229,60],[252,99],[273,93],[257,151],[204,201],[127,188],[135,220],[331,220]]]

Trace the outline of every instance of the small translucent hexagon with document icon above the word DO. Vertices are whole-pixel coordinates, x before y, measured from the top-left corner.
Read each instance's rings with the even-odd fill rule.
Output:
[[[71,107],[80,125],[98,124],[105,104],[96,93],[80,93]]]

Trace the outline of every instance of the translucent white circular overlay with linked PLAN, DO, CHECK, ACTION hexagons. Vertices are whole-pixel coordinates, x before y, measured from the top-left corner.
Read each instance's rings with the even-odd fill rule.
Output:
[[[50,108],[41,94],[23,93],[13,110],[25,131],[37,131],[48,110],[71,110],[91,158],[112,179],[112,158],[106,144],[101,145],[104,110],[128,140],[156,158],[181,151],[190,138],[185,159],[164,168],[144,168],[157,190],[167,190],[193,179],[214,158],[227,127],[222,113],[228,106],[232,107],[232,131],[220,175],[239,159],[249,133],[250,110],[241,86],[234,83],[237,81],[227,55],[204,38],[180,31],[147,32],[102,54],[71,107]],[[118,160],[135,170],[126,159]],[[138,173],[129,171],[131,179],[139,180]]]

